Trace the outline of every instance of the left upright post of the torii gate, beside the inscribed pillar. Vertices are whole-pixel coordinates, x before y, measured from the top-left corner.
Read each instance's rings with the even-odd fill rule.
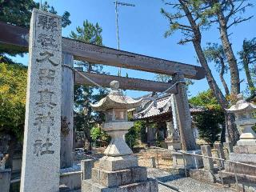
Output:
[[[62,134],[61,168],[73,164],[73,108],[74,108],[74,73],[69,67],[74,66],[73,55],[62,53]]]

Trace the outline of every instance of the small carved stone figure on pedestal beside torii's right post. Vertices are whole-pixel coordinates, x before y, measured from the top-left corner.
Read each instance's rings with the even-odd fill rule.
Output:
[[[165,140],[167,149],[169,150],[181,150],[181,140],[178,136],[177,131],[174,129],[173,122],[166,122],[167,127],[167,138]]]

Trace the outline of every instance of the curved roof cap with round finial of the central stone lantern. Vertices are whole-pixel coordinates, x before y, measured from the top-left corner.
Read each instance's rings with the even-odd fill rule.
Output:
[[[106,96],[106,98],[102,98],[99,102],[95,104],[90,104],[93,110],[96,111],[106,111],[110,109],[132,109],[134,107],[140,106],[142,103],[141,99],[134,99],[122,94],[119,88],[118,81],[110,82],[110,93]]]

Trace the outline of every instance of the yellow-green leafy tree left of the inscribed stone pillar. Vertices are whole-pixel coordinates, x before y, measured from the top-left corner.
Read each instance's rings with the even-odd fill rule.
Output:
[[[26,106],[26,67],[0,63],[0,135],[10,138],[8,154],[12,157],[22,141]]]

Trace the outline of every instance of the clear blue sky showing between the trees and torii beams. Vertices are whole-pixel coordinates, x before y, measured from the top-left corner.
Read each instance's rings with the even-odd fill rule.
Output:
[[[121,0],[120,0],[121,1]],[[38,1],[37,1],[38,2]],[[102,37],[104,46],[116,48],[116,27],[114,0],[50,0],[51,6],[54,6],[58,14],[62,14],[65,10],[70,12],[70,20],[72,24],[62,30],[62,36],[68,37],[71,30],[75,30],[76,26],[82,26],[82,22],[88,19],[90,22],[98,22],[102,26]],[[191,43],[180,46],[177,44],[181,38],[179,32],[170,38],[164,38],[163,34],[168,29],[168,21],[160,14],[161,7],[171,10],[170,6],[165,6],[161,0],[122,0],[122,2],[134,3],[135,7],[121,6],[119,7],[119,34],[120,49],[127,50],[138,54],[146,54],[156,58],[164,58],[177,62],[184,62],[192,65],[198,65],[194,47]],[[254,2],[251,0],[251,2]],[[256,15],[255,7],[249,8],[246,15]],[[256,37],[256,18],[252,18],[249,22],[243,22],[238,26],[230,29],[230,36],[234,53],[241,50],[244,38],[250,39]],[[213,26],[209,31],[202,32],[202,45],[206,46],[206,42],[220,42],[218,38],[217,26]],[[17,57],[16,61],[27,65],[28,58]],[[218,73],[214,70],[214,63],[211,64],[214,77],[218,78]],[[117,74],[118,68],[105,67],[110,74]],[[150,74],[137,70],[122,69],[122,75],[126,72],[130,78],[155,79],[155,74]],[[226,82],[230,85],[230,77],[225,76]],[[241,73],[241,79],[245,78],[245,74]],[[194,85],[190,86],[190,95],[196,95],[202,90],[209,88],[206,79],[194,81]],[[221,86],[222,88],[222,86]],[[246,90],[246,81],[242,82],[242,90]],[[126,91],[131,97],[139,97],[145,92]]]

